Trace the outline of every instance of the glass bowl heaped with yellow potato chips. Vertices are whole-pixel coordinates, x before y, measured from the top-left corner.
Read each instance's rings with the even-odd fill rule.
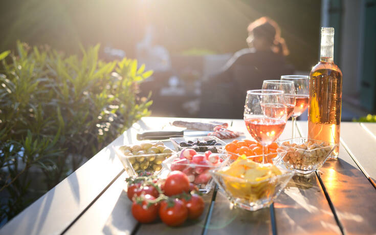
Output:
[[[210,174],[234,206],[253,211],[268,207],[294,171],[284,165],[261,164],[240,156],[228,166],[211,170]]]

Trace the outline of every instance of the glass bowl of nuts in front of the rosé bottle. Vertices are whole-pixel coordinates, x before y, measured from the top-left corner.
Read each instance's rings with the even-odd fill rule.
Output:
[[[337,146],[335,143],[303,137],[278,141],[278,145],[287,153],[275,163],[283,163],[300,174],[318,170]]]

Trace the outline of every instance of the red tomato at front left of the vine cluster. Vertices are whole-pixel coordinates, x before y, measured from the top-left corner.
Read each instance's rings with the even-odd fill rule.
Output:
[[[131,211],[133,217],[140,223],[151,223],[158,217],[157,203],[149,205],[146,200],[154,200],[151,195],[145,195],[145,200],[137,203],[136,200],[132,203]]]

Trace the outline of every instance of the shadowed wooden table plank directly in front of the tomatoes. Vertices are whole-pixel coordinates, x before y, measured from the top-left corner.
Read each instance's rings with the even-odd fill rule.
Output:
[[[205,219],[208,214],[212,196],[213,190],[209,194],[203,195],[205,209],[201,217],[197,220],[188,220],[179,227],[169,227],[161,220],[152,224],[141,224],[136,234],[201,234],[205,225]]]

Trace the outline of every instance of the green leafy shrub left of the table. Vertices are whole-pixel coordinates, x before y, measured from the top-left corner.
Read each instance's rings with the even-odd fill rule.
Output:
[[[137,93],[152,71],[132,59],[103,62],[98,50],[67,56],[17,42],[17,55],[0,53],[0,220],[35,199],[30,169],[48,190],[150,114],[150,95]]]

